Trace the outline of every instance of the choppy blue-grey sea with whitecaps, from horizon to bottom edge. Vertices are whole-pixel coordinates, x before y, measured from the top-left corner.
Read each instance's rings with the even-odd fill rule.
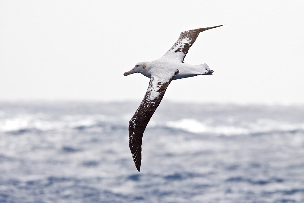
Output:
[[[304,202],[304,106],[0,103],[0,202]]]

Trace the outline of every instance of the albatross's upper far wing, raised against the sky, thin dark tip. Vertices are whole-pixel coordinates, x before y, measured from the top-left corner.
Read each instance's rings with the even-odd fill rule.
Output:
[[[199,36],[199,33],[207,29],[212,29],[220,26],[205,27],[181,32],[181,35],[179,36],[178,40],[163,57],[170,57],[172,59],[180,61],[181,63],[184,63],[184,58],[192,44],[195,42],[196,38]]]

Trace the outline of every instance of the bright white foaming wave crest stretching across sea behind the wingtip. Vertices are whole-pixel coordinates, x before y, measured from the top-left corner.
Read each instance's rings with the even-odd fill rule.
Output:
[[[122,128],[127,127],[129,117],[111,118],[105,115],[62,115],[49,118],[47,115],[16,115],[0,119],[0,132],[22,134],[38,130],[50,131],[61,129],[84,130],[92,127]],[[304,130],[304,122],[286,122],[273,119],[256,119],[254,122],[243,121],[229,123],[226,121],[198,121],[196,119],[171,120],[157,123],[152,120],[147,128],[170,128],[191,133],[211,133],[218,135],[248,135],[273,131]]]

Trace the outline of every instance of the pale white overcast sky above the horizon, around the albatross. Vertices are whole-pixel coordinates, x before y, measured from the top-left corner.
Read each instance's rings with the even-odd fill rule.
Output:
[[[184,62],[212,76],[174,80],[176,102],[304,104],[304,1],[0,1],[0,101],[141,101],[182,31]]]

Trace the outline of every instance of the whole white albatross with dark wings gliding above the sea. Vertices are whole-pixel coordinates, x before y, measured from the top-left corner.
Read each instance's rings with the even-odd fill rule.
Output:
[[[178,40],[163,57],[150,62],[139,62],[131,71],[123,74],[127,76],[133,73],[141,73],[150,78],[145,97],[129,122],[129,146],[138,172],[140,171],[141,165],[143,132],[161,102],[170,82],[172,80],[196,75],[212,75],[213,71],[210,70],[207,64],[186,64],[184,63],[184,58],[189,48],[199,36],[199,33],[216,27],[219,26],[182,32]]]

